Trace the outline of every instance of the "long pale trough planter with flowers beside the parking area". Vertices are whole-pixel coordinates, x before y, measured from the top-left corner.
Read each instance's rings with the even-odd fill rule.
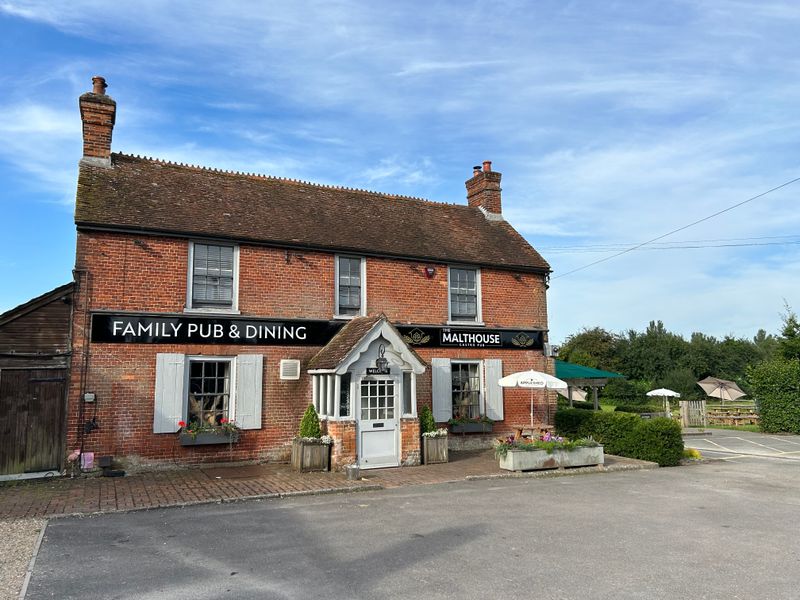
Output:
[[[495,446],[500,468],[533,471],[603,464],[603,447],[592,438],[567,440],[550,433],[537,439],[510,437]]]

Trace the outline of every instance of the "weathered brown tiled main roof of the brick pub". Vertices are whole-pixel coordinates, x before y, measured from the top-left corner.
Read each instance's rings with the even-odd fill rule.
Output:
[[[466,205],[112,154],[81,164],[75,222],[526,271],[547,262],[504,220]]]

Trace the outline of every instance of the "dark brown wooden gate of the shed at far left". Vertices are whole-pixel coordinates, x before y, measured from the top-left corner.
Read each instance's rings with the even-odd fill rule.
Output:
[[[61,470],[66,369],[0,370],[0,475]]]

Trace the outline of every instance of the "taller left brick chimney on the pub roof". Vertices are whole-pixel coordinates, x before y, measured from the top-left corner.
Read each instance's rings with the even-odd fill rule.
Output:
[[[106,96],[106,80],[92,77],[92,91],[82,94],[78,104],[83,122],[83,161],[111,166],[111,134],[117,116],[117,103]]]

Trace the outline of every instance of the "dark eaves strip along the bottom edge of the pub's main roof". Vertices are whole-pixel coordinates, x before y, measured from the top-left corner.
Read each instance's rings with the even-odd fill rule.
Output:
[[[446,257],[424,256],[424,255],[411,256],[405,254],[393,254],[390,252],[370,252],[370,251],[365,251],[361,248],[322,246],[313,244],[292,244],[290,242],[257,240],[247,237],[214,236],[208,233],[197,233],[192,231],[179,231],[179,230],[158,229],[149,227],[132,227],[130,225],[98,224],[98,223],[92,223],[91,221],[76,220],[75,226],[78,230],[103,231],[112,233],[139,233],[146,235],[164,235],[167,237],[232,241],[232,242],[253,244],[256,246],[269,246],[272,248],[287,248],[293,250],[311,250],[311,251],[323,251],[323,252],[342,252],[347,254],[357,254],[359,256],[372,256],[375,258],[398,258],[403,260],[431,261],[431,262],[446,263],[446,264],[474,265],[477,267],[491,267],[493,269],[498,269],[502,271],[522,271],[525,273],[536,273],[540,275],[547,275],[549,273],[552,273],[552,269],[550,269],[549,266],[545,268],[533,265],[475,262],[470,260],[463,260],[460,258],[446,258]]]

